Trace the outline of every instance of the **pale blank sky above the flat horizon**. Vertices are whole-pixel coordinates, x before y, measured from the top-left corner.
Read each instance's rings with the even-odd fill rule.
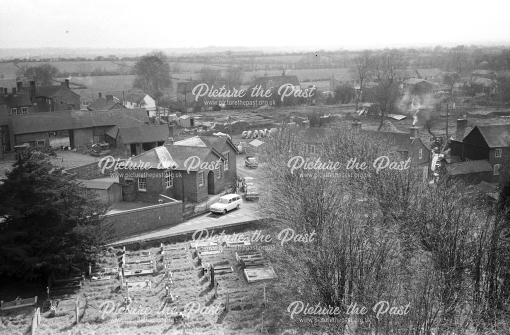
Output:
[[[18,0],[0,48],[510,44],[510,2]]]

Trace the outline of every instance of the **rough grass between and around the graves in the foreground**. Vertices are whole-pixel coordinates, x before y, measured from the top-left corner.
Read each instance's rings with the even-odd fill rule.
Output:
[[[250,233],[245,233],[249,236]],[[86,280],[78,292],[80,301],[80,324],[74,324],[74,312],[70,311],[73,301],[63,304],[57,309],[57,316],[50,317],[49,311],[42,311],[42,322],[37,334],[162,334],[183,333],[182,324],[173,324],[172,318],[176,311],[184,311],[189,318],[186,323],[186,333],[189,335],[216,334],[254,334],[262,326],[263,286],[268,294],[273,289],[272,280],[248,284],[244,279],[241,267],[237,264],[234,250],[224,250],[223,253],[204,256],[203,263],[214,265],[229,265],[234,268],[233,273],[216,272],[218,280],[218,296],[214,297],[214,289],[209,288],[206,276],[200,274],[196,255],[190,249],[189,242],[177,243],[167,247],[175,250],[168,253],[173,285],[172,295],[180,297],[180,302],[169,303],[165,306],[165,275],[162,255],[159,248],[149,248],[152,260],[155,262],[154,275],[129,277],[128,280],[150,280],[150,291],[131,291],[132,308],[150,308],[150,313],[108,313],[105,308],[111,303],[121,304],[125,292],[120,290],[120,281],[115,275],[105,281]],[[265,251],[256,251],[262,252]],[[136,252],[135,252],[136,254]],[[96,268],[115,267],[121,256],[121,251],[108,249],[99,256]],[[223,311],[226,293],[230,294],[231,311]],[[43,300],[43,299],[41,299]],[[111,302],[110,302],[111,301]],[[113,305],[112,305],[113,306]],[[148,310],[146,310],[148,311]],[[200,311],[200,312],[199,312]],[[105,312],[105,313],[104,313]],[[174,313],[175,312],[175,313]],[[142,315],[143,314],[143,315]],[[23,334],[29,328],[31,309],[25,311],[1,314],[4,321],[3,330],[11,334]],[[273,320],[271,314],[265,316],[266,325]],[[2,329],[2,328],[0,328]]]

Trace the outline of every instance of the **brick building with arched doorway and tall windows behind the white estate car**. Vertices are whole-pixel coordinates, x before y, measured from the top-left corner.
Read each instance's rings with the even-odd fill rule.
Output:
[[[119,176],[121,184],[135,187],[136,199],[155,201],[160,195],[200,202],[225,189],[224,158],[211,147],[167,144],[133,158],[148,169],[119,169],[135,177]]]

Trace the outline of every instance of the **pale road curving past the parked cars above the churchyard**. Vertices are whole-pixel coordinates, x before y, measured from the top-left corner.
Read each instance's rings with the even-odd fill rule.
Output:
[[[257,169],[248,169],[244,166],[244,155],[238,155],[236,157],[236,163],[238,175],[257,178]],[[245,201],[243,199],[243,204],[240,209],[233,210],[225,215],[214,213],[202,214],[171,227],[156,228],[122,238],[112,243],[112,245],[122,246],[142,241],[152,241],[173,236],[186,235],[193,233],[197,229],[212,230],[220,229],[222,227],[242,225],[262,219],[257,212],[257,202]]]

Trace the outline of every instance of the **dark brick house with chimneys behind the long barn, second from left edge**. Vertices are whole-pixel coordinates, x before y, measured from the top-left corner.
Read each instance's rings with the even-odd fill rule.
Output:
[[[36,86],[30,82],[30,96],[37,104],[38,112],[59,112],[80,110],[80,95],[69,89],[69,80],[61,85]]]

